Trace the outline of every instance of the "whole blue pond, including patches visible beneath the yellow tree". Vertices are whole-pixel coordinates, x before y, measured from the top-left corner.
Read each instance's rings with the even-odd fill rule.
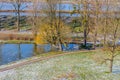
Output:
[[[0,44],[0,65],[34,56],[34,47],[34,44]],[[77,44],[62,45],[62,47],[63,51],[79,50]],[[46,53],[58,49],[51,47],[50,44],[44,44],[38,45],[37,50],[39,53]]]

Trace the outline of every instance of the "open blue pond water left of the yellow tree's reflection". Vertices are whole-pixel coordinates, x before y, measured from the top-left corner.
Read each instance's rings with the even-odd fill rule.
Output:
[[[33,44],[1,44],[0,65],[33,56]]]

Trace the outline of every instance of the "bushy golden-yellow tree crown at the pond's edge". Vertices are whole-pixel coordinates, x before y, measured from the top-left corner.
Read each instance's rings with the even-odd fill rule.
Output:
[[[58,46],[59,40],[61,40],[62,44],[68,42],[69,37],[71,37],[71,28],[66,26],[62,21],[58,27],[58,23],[56,22],[53,23],[53,26],[47,23],[42,24],[35,40],[37,44],[51,44]]]

